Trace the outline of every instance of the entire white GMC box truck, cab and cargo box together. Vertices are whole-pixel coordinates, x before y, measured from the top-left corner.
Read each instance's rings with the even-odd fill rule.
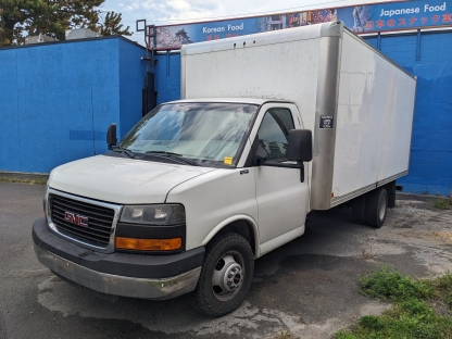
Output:
[[[381,227],[409,171],[416,79],[341,22],[180,53],[183,100],[54,168],[33,240],[64,280],[151,300],[194,291],[221,316],[311,211],[348,203]]]

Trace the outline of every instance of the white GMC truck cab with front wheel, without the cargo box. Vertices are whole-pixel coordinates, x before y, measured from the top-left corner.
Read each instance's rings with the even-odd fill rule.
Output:
[[[243,300],[253,260],[304,233],[312,136],[297,105],[264,99],[162,104],[110,152],[52,171],[38,260],[114,296],[196,290],[218,316]]]

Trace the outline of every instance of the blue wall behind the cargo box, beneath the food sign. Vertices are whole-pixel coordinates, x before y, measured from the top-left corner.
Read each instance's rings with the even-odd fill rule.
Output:
[[[367,38],[377,47],[377,38]],[[419,45],[418,45],[419,42]],[[452,33],[381,36],[382,53],[417,76],[410,174],[403,190],[449,196],[452,187]],[[158,103],[180,98],[180,55],[159,55]]]

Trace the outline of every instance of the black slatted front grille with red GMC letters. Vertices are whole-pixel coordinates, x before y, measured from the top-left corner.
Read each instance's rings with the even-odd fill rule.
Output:
[[[74,200],[58,194],[49,194],[51,218],[59,233],[73,239],[106,248],[113,227],[114,210]],[[79,226],[65,219],[65,212],[88,219]]]

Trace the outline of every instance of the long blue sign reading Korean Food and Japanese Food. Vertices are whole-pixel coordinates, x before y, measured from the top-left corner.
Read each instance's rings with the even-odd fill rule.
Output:
[[[357,34],[452,26],[452,3],[444,0],[399,1],[266,16],[156,27],[155,48],[225,39],[341,20]]]

